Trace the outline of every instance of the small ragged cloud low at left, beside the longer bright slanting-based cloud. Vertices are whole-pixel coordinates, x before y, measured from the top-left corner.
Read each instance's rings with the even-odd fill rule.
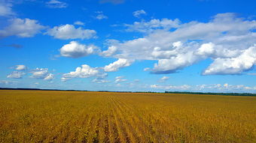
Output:
[[[51,80],[53,79],[53,74],[48,72],[47,68],[36,68],[35,70],[31,71],[32,78],[35,79],[44,79],[44,80]]]

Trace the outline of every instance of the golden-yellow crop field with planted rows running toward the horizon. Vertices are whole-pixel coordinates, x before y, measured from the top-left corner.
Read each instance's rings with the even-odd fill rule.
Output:
[[[256,97],[0,91],[0,142],[256,142]]]

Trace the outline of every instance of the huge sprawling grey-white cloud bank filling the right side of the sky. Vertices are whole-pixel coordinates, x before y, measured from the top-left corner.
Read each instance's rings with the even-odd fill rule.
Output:
[[[219,13],[209,22],[152,20],[128,26],[145,36],[112,43],[116,50],[111,57],[157,61],[152,73],[175,73],[206,58],[213,63],[205,75],[242,73],[255,64],[255,20],[234,13]]]

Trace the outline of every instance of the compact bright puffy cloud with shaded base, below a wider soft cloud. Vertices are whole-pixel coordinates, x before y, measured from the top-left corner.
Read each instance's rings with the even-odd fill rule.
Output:
[[[62,46],[59,52],[64,57],[79,58],[93,54],[94,49],[97,49],[96,46],[86,46],[76,41],[71,41],[69,44]]]

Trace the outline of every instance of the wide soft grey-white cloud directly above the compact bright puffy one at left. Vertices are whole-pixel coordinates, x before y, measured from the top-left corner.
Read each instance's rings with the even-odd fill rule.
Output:
[[[56,39],[90,39],[96,37],[96,31],[84,28],[75,28],[74,25],[59,25],[48,29],[46,34],[55,37]]]

